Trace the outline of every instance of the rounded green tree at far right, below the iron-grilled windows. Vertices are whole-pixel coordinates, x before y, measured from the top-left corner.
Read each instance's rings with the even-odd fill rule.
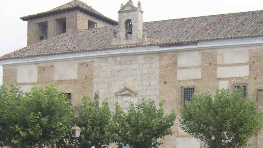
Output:
[[[194,94],[193,102],[182,108],[181,128],[203,141],[209,148],[244,148],[262,128],[263,113],[255,99],[244,99],[241,90],[218,90]]]

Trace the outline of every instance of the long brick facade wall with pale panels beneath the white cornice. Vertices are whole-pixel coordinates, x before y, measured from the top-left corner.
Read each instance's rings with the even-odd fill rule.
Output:
[[[231,60],[227,58],[236,55],[235,53],[240,56],[232,56]],[[192,56],[195,58],[191,59]],[[172,109],[176,110],[177,119],[172,128],[174,135],[161,139],[164,142],[162,148],[199,148],[202,144],[179,127],[182,87],[194,86],[195,93],[209,91],[213,96],[219,88],[229,88],[233,91],[234,85],[246,84],[247,97],[257,99],[259,109],[262,110],[262,57],[262,47],[243,47],[48,62],[36,64],[37,82],[28,80],[28,83],[17,82],[19,65],[4,66],[3,82],[18,84],[24,90],[35,85],[44,87],[50,83],[57,84],[59,89],[72,93],[74,107],[81,101],[82,95],[93,97],[94,92],[98,90],[101,100],[105,97],[109,99],[112,110],[119,99],[115,93],[128,87],[137,94],[135,97],[125,95],[120,99],[136,101],[144,97],[153,98],[156,103],[163,100],[165,113],[171,112]],[[182,59],[185,63],[184,61],[182,63]],[[68,75],[61,76],[62,80],[54,80],[58,77],[55,71],[63,71],[61,66],[58,67],[63,65],[63,62],[68,66],[65,68],[77,68],[75,71],[68,71]],[[27,72],[27,66],[23,67],[24,72]],[[33,67],[32,64],[28,65],[28,68]],[[236,67],[239,68],[237,71],[227,71]],[[225,74],[222,70],[226,70]],[[186,77],[187,71],[194,73],[191,77]],[[232,77],[235,72],[234,76],[237,77]],[[77,77],[72,77],[76,74]],[[263,148],[263,132],[254,135],[250,143],[250,148]]]

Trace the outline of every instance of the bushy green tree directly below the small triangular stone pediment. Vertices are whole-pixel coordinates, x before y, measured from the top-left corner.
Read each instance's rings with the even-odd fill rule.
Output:
[[[163,103],[155,105],[154,100],[131,104],[127,113],[119,105],[111,121],[111,133],[115,142],[132,148],[157,148],[161,137],[172,135],[171,127],[175,122],[175,111],[164,115]]]

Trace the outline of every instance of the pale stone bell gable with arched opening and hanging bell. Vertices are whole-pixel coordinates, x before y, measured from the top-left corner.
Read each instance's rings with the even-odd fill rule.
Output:
[[[138,6],[129,0],[125,5],[121,4],[119,13],[119,32],[114,32],[113,45],[144,43],[146,41],[145,29],[143,29],[143,10],[140,1]]]

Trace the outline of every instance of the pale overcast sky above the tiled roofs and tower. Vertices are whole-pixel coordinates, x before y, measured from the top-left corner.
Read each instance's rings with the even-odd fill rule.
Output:
[[[27,22],[22,16],[45,12],[70,0],[2,0],[0,5],[0,56],[27,45]],[[121,3],[128,0],[82,0],[103,15],[118,20]],[[133,0],[137,6],[137,0]],[[262,0],[141,0],[143,21],[263,10]],[[2,68],[0,68],[2,83]]]

